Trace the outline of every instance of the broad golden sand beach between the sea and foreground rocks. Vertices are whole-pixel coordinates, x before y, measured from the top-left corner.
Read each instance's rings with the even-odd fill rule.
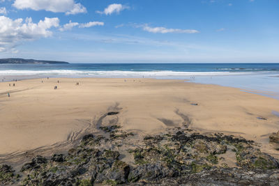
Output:
[[[197,132],[252,139],[264,152],[279,157],[268,139],[279,130],[279,117],[272,114],[279,111],[279,100],[179,80],[41,80],[0,83],[0,157],[36,148],[68,147],[84,132],[98,127],[98,119],[107,111],[119,111],[116,122],[140,135],[189,125]],[[10,83],[15,87],[8,86]],[[195,103],[198,105],[192,105]]]

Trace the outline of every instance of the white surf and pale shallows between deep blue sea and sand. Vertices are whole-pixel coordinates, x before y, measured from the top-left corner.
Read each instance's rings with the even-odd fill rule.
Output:
[[[54,70],[55,71],[55,70]],[[59,70],[57,70],[59,71]],[[66,70],[67,71],[67,70]],[[69,70],[71,71],[71,70]],[[92,71],[94,72],[94,71]],[[97,72],[97,71],[96,71]],[[107,73],[107,71],[104,71]],[[119,72],[120,71],[112,71]],[[129,73],[134,73],[133,71],[127,71]],[[164,72],[164,71],[162,71]],[[166,71],[168,72],[168,71]],[[135,72],[137,73],[137,72]],[[149,73],[149,72],[144,72]],[[156,72],[153,72],[156,73]],[[179,72],[176,72],[179,73]],[[182,72],[184,73],[184,72]],[[220,75],[220,72],[213,72],[212,75],[199,75],[199,73],[207,73],[207,72],[187,72],[193,73],[191,75],[52,75],[52,74],[38,74],[38,75],[0,75],[0,79],[2,82],[11,82],[15,79],[17,80],[28,80],[28,79],[45,79],[46,77],[50,78],[105,78],[105,79],[170,79],[170,80],[184,80],[187,82],[193,82],[198,84],[212,84],[219,86],[226,86],[231,88],[239,88],[243,91],[247,91],[249,93],[255,93],[257,95],[264,95],[269,98],[274,98],[279,100],[279,88],[274,86],[275,84],[279,84],[279,79],[274,76],[277,72],[232,72],[227,73],[226,75]],[[197,74],[195,74],[197,73]],[[209,72],[211,73],[211,72]],[[214,74],[217,73],[217,74]],[[222,72],[221,72],[222,73]],[[240,74],[238,74],[240,73]]]

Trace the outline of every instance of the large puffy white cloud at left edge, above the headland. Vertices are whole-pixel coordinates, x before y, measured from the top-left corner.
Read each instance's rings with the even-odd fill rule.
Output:
[[[52,36],[50,29],[58,26],[57,17],[45,17],[45,20],[33,23],[31,17],[27,17],[26,20],[22,18],[12,20],[9,17],[0,16],[0,52],[16,51],[15,46],[27,40],[50,37]]]

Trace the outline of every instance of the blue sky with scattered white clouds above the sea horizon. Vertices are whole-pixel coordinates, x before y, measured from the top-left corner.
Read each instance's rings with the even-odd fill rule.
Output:
[[[0,58],[279,62],[279,0],[0,0]]]

